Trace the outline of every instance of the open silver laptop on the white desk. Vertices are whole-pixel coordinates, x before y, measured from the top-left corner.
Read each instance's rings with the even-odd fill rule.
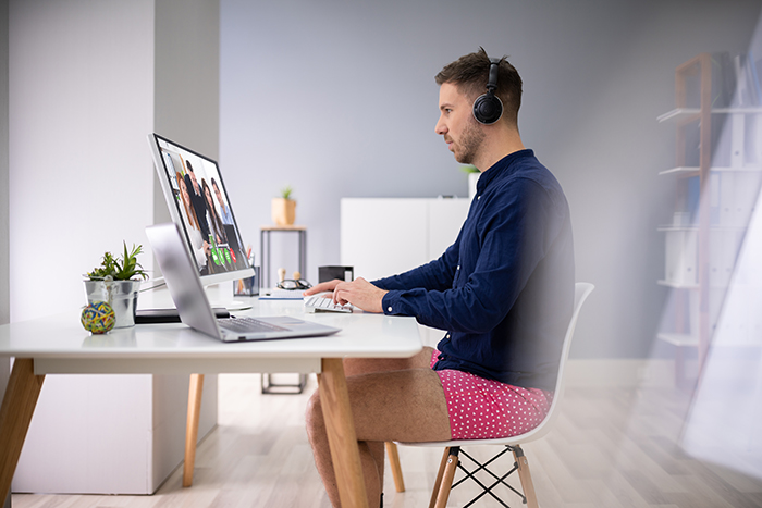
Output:
[[[229,343],[331,335],[341,330],[285,315],[218,319],[177,225],[148,226],[146,234],[177,307],[180,320],[198,332]]]

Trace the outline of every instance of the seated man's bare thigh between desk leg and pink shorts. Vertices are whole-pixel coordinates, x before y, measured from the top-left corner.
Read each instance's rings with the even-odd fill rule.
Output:
[[[347,377],[359,441],[447,441],[450,418],[442,383],[425,368]]]

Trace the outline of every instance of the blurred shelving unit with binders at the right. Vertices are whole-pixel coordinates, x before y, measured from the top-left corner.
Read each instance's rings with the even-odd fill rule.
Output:
[[[657,338],[676,346],[678,384],[686,380],[688,349],[698,351],[699,373],[703,368],[762,179],[762,153],[755,151],[762,144],[748,143],[762,134],[762,108],[713,108],[720,92],[712,91],[712,67],[709,53],[679,65],[676,109],[657,117],[677,128],[676,165],[659,173],[677,178],[677,193],[672,224],[659,227],[666,252],[665,276],[657,284],[673,288],[675,299],[672,326]],[[698,108],[689,104],[697,99],[690,90],[698,90]]]

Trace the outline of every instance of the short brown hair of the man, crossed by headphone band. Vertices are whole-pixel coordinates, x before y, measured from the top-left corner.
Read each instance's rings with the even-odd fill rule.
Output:
[[[460,92],[472,101],[487,91],[491,64],[484,48],[479,48],[479,51],[460,57],[445,65],[434,79],[440,86],[445,83],[457,86]],[[518,75],[516,67],[508,63],[507,57],[500,59],[495,95],[503,101],[503,120],[518,125],[518,109],[521,106],[521,76]]]

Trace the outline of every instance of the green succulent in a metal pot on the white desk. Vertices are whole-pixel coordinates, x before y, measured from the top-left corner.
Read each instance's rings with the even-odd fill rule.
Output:
[[[148,274],[137,262],[137,256],[143,252],[143,246],[133,245],[132,249],[127,249],[127,244],[123,244],[124,251],[121,257],[106,252],[100,267],[96,267],[85,275],[87,302],[108,302],[116,318],[115,329],[135,324],[140,282],[148,278]]]

